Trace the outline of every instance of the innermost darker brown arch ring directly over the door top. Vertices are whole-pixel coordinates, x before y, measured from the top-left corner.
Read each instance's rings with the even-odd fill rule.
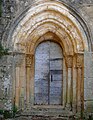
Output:
[[[47,30],[47,29],[46,29]],[[48,33],[50,33],[51,37],[49,37]],[[28,44],[30,44],[30,48],[29,48],[29,52],[31,52],[32,54],[34,53],[34,50],[36,48],[36,46],[42,42],[42,41],[45,41],[45,40],[48,40],[48,39],[52,39],[53,41],[56,41],[57,43],[59,43],[62,47],[62,49],[64,50],[64,54],[74,54],[74,50],[73,50],[73,47],[71,47],[71,50],[70,50],[70,53],[68,52],[69,50],[69,44],[66,43],[66,42],[63,42],[62,40],[66,41],[63,36],[61,36],[62,39],[60,39],[60,37],[58,37],[57,35],[60,34],[59,32],[56,31],[56,34],[55,33],[52,33],[52,30],[49,30],[49,32],[45,33],[44,35],[42,34],[40,37],[38,37],[38,39],[34,42],[28,42]],[[53,38],[53,36],[55,36],[55,38]],[[37,36],[36,36],[37,37]],[[33,45],[32,45],[33,44]],[[71,43],[70,43],[71,44]],[[68,47],[66,47],[68,46]],[[72,46],[72,45],[71,45]]]

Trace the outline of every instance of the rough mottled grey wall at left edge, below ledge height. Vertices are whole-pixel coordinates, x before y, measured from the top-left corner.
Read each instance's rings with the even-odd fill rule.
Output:
[[[2,57],[0,60],[0,110],[12,109],[12,66],[11,57]],[[11,73],[11,75],[9,74]]]

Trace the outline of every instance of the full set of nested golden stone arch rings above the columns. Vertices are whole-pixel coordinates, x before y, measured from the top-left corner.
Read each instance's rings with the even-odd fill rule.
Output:
[[[47,34],[55,34],[64,46],[67,55],[88,50],[85,33],[79,22],[70,11],[59,2],[45,2],[30,8],[26,16],[19,22],[12,35],[14,49],[21,44],[30,53],[33,45],[39,43],[40,38]],[[52,34],[53,33],[53,34]]]

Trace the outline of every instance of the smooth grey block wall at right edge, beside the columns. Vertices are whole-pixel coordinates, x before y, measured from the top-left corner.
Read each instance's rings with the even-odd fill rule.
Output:
[[[93,112],[93,53],[84,55],[84,102],[85,110]]]

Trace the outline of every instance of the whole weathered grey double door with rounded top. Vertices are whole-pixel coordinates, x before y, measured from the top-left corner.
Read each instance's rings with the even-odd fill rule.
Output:
[[[59,44],[40,43],[35,52],[35,103],[61,105],[63,54]]]

